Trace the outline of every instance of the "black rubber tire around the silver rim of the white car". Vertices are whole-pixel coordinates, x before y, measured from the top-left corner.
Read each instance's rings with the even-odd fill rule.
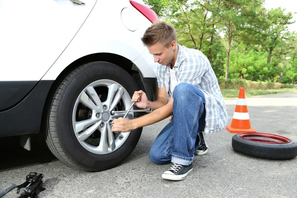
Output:
[[[136,82],[121,67],[108,62],[91,62],[70,72],[52,94],[44,127],[50,151],[61,161],[85,171],[101,171],[121,163],[136,147],[142,128],[130,133],[126,142],[108,154],[95,154],[83,148],[72,127],[72,112],[81,91],[100,79],[121,84],[132,98],[139,90]],[[139,114],[134,114],[134,117]]]

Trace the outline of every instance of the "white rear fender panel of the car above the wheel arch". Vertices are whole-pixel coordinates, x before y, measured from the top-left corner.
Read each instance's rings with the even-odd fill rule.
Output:
[[[105,7],[113,8],[104,9]],[[122,22],[123,8],[132,10],[138,24],[141,24],[135,31],[130,31]],[[106,18],[108,20],[105,20]],[[131,61],[135,60],[146,50],[141,37],[149,25],[151,22],[137,11],[129,0],[99,0],[75,38],[42,80],[55,80],[65,67],[89,54],[113,53]],[[144,77],[155,77],[150,65],[136,64],[136,66]]]

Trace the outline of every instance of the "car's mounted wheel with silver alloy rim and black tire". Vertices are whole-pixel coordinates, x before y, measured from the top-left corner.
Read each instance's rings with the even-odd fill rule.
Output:
[[[111,121],[125,113],[111,111],[127,110],[137,90],[131,75],[112,63],[91,62],[70,72],[49,103],[45,124],[51,152],[61,161],[86,171],[118,165],[136,147],[142,128],[112,132]],[[127,115],[129,119],[137,116]]]

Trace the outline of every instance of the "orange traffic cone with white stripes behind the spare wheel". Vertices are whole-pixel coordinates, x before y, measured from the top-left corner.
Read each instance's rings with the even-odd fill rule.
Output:
[[[256,130],[250,127],[249,116],[247,111],[247,102],[245,97],[245,88],[239,89],[239,96],[235,107],[231,126],[226,129],[230,133],[256,133]]]

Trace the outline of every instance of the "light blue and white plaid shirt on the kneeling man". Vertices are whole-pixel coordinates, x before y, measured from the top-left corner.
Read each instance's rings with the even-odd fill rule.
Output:
[[[189,83],[198,87],[205,97],[205,134],[216,133],[227,125],[228,114],[225,102],[218,85],[218,80],[207,57],[197,49],[178,45],[179,51],[173,70],[176,73],[177,85]],[[170,63],[169,63],[170,64]],[[158,87],[165,87],[169,101],[170,71],[167,66],[158,65],[156,76]]]

